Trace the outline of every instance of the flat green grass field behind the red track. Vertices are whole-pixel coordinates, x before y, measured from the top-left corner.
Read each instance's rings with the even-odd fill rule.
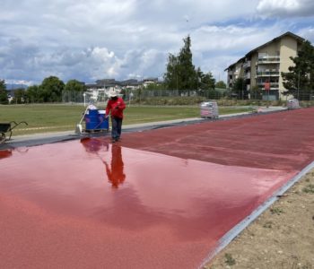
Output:
[[[102,109],[102,108],[100,108]],[[37,134],[74,130],[85,108],[83,105],[0,105],[0,123],[26,121],[28,126],[17,126],[13,135]],[[219,114],[250,111],[251,108],[219,108]],[[130,106],[125,110],[124,125],[163,120],[199,117],[199,107],[144,107]]]

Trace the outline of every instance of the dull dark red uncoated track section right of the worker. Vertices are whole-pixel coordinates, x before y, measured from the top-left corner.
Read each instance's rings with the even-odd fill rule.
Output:
[[[313,160],[314,108],[127,134],[123,146],[183,159],[262,169]]]

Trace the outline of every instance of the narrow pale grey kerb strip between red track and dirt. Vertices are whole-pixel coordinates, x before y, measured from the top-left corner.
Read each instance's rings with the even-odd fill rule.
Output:
[[[235,239],[242,230],[245,230],[252,221],[255,221],[261,213],[264,213],[267,208],[277,201],[281,195],[283,195],[287,190],[289,190],[295,183],[297,183],[304,175],[314,169],[314,161],[307,165],[304,169],[301,169],[300,173],[291,178],[287,183],[280,187],[275,193],[266,200],[265,203],[259,205],[256,210],[249,214],[243,221],[240,221],[236,226],[229,230],[222,239],[219,240],[217,247],[213,252],[205,258],[199,268],[204,268],[205,264],[209,263],[214,256],[222,251],[223,248],[227,247],[233,239]]]

